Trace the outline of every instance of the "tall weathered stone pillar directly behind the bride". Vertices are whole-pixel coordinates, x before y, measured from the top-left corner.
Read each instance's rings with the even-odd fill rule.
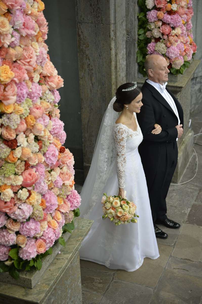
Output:
[[[107,105],[135,79],[135,8],[134,0],[76,0],[85,175]]]

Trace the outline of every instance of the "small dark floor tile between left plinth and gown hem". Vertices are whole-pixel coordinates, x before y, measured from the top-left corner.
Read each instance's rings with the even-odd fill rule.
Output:
[[[83,291],[97,292],[103,294],[111,282],[113,275],[81,267],[81,284]]]

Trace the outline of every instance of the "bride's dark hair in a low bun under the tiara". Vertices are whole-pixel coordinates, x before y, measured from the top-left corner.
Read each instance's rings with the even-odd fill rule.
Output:
[[[127,82],[123,85],[120,85],[116,91],[116,100],[113,104],[113,109],[116,112],[123,111],[124,105],[129,105],[132,100],[134,100],[140,93],[140,89],[135,88],[129,91],[122,91],[123,89],[131,88],[134,86],[134,83]]]

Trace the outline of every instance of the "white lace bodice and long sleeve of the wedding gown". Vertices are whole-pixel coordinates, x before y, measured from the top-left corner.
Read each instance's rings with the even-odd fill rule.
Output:
[[[116,151],[116,166],[119,188],[125,188],[125,167],[127,153],[135,150],[143,140],[140,126],[133,131],[122,123],[116,123],[113,127],[113,139]]]

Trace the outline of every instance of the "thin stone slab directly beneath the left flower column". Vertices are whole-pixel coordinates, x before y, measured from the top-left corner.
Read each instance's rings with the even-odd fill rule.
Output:
[[[78,219],[74,219],[74,225],[75,229],[78,226]],[[66,232],[62,235],[64,240],[67,242],[69,237],[71,236],[71,233]],[[59,243],[56,242],[56,244],[52,247],[52,254],[47,255],[42,259],[42,268],[39,271],[35,270],[30,270],[30,271],[23,271],[20,272],[20,278],[19,280],[15,280],[12,278],[8,272],[2,272],[0,273],[0,281],[1,282],[6,282],[6,283],[11,283],[14,285],[19,285],[23,287],[28,287],[28,288],[34,288],[36,283],[39,281],[45,270],[49,267],[49,265],[52,263],[58,252],[63,248],[63,246]]]

